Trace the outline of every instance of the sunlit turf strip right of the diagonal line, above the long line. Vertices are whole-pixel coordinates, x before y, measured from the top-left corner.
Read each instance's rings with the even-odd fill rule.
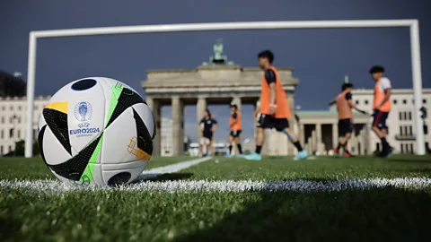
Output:
[[[431,177],[431,156],[397,155],[389,160],[373,157],[345,159],[323,156],[316,160],[292,160],[292,157],[267,157],[259,161],[216,158],[181,172],[191,174],[189,179],[209,180]]]

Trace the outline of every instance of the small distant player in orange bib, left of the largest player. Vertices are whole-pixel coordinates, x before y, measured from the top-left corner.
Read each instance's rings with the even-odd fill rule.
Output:
[[[231,104],[231,117],[229,117],[229,130],[231,133],[229,134],[229,153],[226,154],[226,157],[232,157],[232,148],[233,143],[236,143],[236,147],[238,148],[238,157],[242,157],[242,146],[241,146],[241,133],[242,133],[242,120],[241,120],[241,112],[238,110],[238,106],[236,104]]]

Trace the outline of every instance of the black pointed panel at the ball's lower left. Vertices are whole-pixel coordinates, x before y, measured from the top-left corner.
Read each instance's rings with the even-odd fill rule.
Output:
[[[75,155],[70,160],[58,165],[48,165],[60,177],[65,177],[70,180],[78,181],[87,167],[88,161],[92,157],[92,153],[96,150],[97,144],[101,140],[101,135],[82,151]]]

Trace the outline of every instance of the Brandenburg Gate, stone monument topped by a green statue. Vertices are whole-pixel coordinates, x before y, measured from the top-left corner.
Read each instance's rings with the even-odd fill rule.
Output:
[[[278,68],[278,73],[294,110],[294,91],[298,80],[292,76],[291,68]],[[220,40],[214,45],[214,55],[210,56],[209,63],[203,63],[196,69],[147,71],[147,80],[142,82],[142,86],[146,93],[146,103],[153,111],[156,124],[154,155],[160,155],[161,151],[163,106],[172,106],[172,155],[180,155],[184,149],[185,105],[197,106],[198,130],[198,122],[209,104],[235,103],[240,110],[242,104],[256,106],[262,74],[259,67],[247,68],[228,62]],[[242,117],[242,122],[254,123],[255,120],[252,117]]]

